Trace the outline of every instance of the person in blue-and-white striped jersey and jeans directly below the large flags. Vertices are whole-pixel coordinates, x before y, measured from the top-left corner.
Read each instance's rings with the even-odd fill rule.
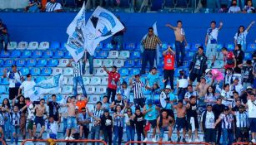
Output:
[[[84,59],[80,59],[78,60],[78,62],[75,62],[74,60],[69,60],[67,67],[73,67],[74,96],[78,95],[78,83],[79,83],[83,91],[83,96],[87,97],[86,90],[83,85],[83,63],[84,63]]]

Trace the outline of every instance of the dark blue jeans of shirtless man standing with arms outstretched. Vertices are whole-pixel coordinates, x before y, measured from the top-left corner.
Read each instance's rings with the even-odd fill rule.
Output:
[[[175,49],[176,49],[176,62],[177,65],[183,65],[184,57],[185,57],[185,43],[180,41],[175,41]],[[179,53],[181,53],[181,59],[179,60]]]

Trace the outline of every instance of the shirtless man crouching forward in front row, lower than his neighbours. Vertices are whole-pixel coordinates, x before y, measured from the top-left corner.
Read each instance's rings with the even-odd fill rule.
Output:
[[[159,133],[159,142],[163,141],[163,133],[168,130],[168,141],[172,142],[174,119],[168,116],[166,109],[163,109],[161,116],[158,117],[157,128]]]

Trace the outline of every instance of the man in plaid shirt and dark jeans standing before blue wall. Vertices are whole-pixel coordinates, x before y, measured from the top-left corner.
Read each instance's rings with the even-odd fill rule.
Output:
[[[142,62],[142,68],[140,71],[141,75],[145,74],[146,66],[149,62],[149,70],[152,70],[153,68],[153,63],[156,58],[156,49],[157,49],[157,44],[159,46],[162,46],[162,42],[156,36],[153,34],[153,27],[148,28],[148,35],[143,39],[142,41],[144,51],[143,51],[143,62]]]

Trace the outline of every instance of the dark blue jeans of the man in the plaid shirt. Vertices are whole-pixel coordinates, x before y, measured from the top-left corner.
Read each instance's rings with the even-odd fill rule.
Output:
[[[148,62],[149,62],[149,70],[152,70],[153,62],[155,58],[156,58],[156,50],[145,49],[143,51],[143,62],[142,62],[142,68],[140,71],[141,74],[145,74],[145,70],[146,70],[146,66],[148,65]]]

